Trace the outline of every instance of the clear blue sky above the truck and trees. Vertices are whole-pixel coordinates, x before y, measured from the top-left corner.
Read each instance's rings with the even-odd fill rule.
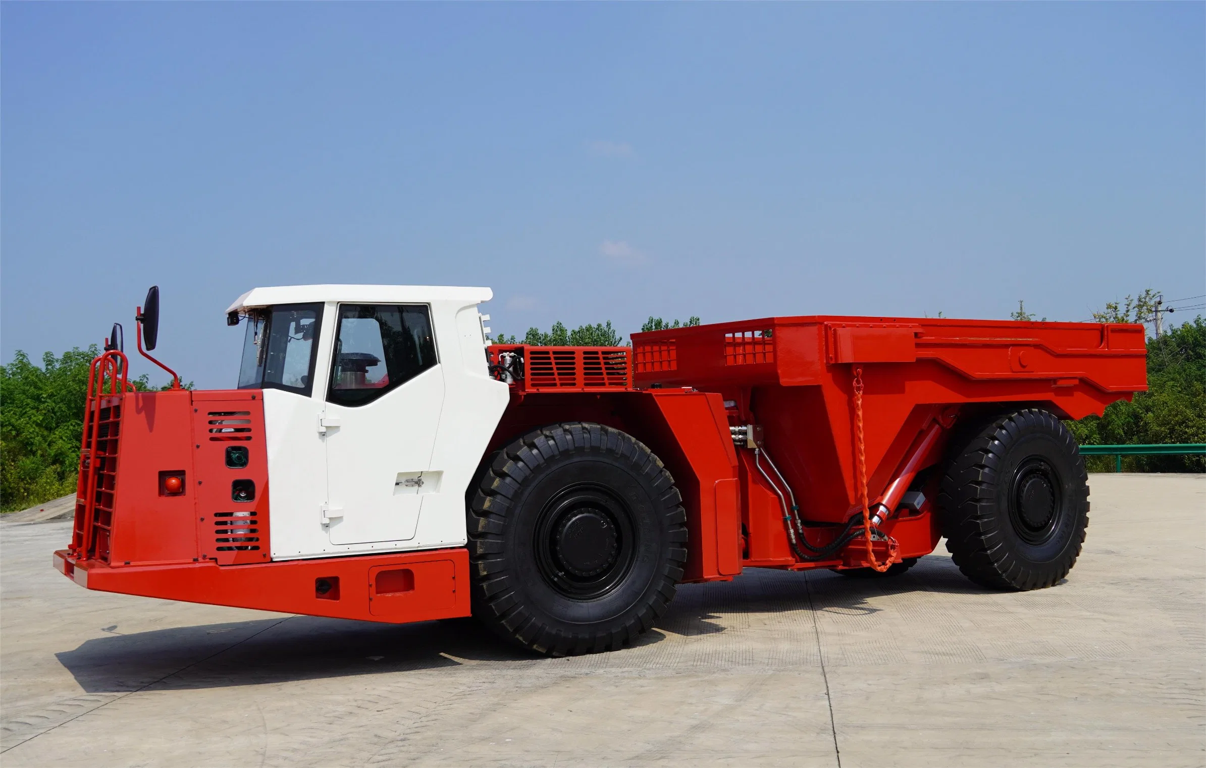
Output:
[[[151,283],[203,387],[262,285],[486,285],[521,335],[1202,294],[1204,10],[6,2],[0,353]]]

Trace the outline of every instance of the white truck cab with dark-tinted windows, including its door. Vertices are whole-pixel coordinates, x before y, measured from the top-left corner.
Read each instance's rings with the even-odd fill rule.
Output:
[[[509,389],[490,288],[254,288],[239,388],[263,389],[273,561],[461,546],[464,493]]]

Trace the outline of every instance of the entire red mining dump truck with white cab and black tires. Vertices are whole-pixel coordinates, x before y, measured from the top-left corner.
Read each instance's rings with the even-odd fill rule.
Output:
[[[617,649],[747,568],[1050,587],[1089,488],[1061,420],[1146,388],[1142,326],[767,317],[631,347],[491,345],[488,288],[256,288],[232,389],[92,363],[75,527],[89,590],[377,622],[476,616]],[[158,288],[136,316],[158,336]]]

